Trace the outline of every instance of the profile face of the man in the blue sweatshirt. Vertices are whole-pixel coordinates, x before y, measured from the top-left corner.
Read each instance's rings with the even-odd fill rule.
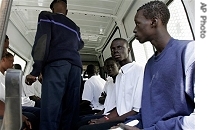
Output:
[[[143,15],[143,11],[139,10],[135,17],[134,17],[134,21],[135,21],[135,28],[133,30],[133,33],[135,33],[135,37],[136,39],[140,42],[140,43],[144,43],[146,41],[149,41],[150,37],[152,36],[151,31],[151,25],[152,25],[152,21],[149,19],[146,19]]]

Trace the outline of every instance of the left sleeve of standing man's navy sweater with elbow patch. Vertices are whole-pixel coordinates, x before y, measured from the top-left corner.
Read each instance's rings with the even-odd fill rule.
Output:
[[[39,14],[37,32],[34,45],[32,47],[32,57],[34,60],[33,70],[30,73],[33,76],[39,76],[44,61],[49,52],[51,39],[51,20],[47,16],[49,12],[42,11]]]

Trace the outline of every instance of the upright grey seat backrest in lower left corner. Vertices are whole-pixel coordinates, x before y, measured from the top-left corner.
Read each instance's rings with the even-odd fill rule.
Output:
[[[22,127],[22,71],[8,69],[5,76],[5,111],[1,130],[19,130]]]

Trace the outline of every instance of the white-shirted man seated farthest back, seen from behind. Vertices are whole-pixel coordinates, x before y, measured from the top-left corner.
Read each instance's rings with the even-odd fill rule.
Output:
[[[80,103],[80,115],[97,113],[104,108],[99,103],[98,98],[103,91],[106,81],[97,74],[97,69],[94,65],[88,65],[86,72],[88,80],[84,84],[82,102]]]

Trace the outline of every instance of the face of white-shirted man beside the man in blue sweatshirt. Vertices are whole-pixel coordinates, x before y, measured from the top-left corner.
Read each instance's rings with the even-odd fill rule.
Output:
[[[129,56],[129,47],[123,40],[113,41],[111,46],[111,55],[116,61],[123,61]]]

